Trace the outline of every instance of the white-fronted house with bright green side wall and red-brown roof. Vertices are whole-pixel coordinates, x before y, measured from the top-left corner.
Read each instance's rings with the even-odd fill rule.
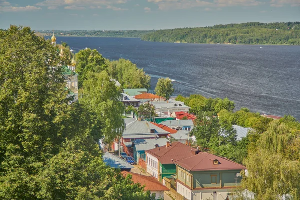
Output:
[[[194,150],[196,149],[180,142],[169,141],[164,146],[147,150],[145,151],[147,172],[154,174],[153,176],[161,182],[164,177],[171,178],[176,174],[174,160],[190,157],[194,155],[192,152]]]

